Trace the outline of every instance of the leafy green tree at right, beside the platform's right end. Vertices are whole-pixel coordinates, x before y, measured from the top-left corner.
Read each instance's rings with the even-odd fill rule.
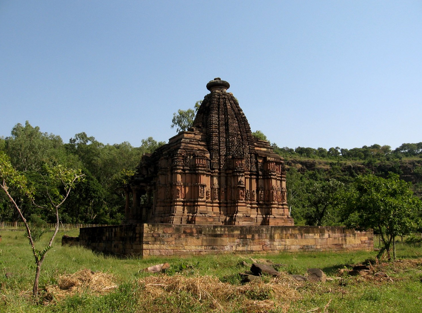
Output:
[[[356,192],[347,205],[346,224],[376,230],[383,243],[378,255],[386,250],[391,259],[391,242],[416,228],[422,202],[410,190],[411,183],[399,179],[398,174],[389,173],[386,178],[360,175],[355,183]]]

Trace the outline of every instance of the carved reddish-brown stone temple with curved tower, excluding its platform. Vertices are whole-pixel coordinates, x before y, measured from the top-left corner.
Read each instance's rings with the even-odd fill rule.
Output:
[[[227,81],[206,87],[193,127],[144,155],[125,185],[125,223],[292,226],[283,158],[252,135]]]

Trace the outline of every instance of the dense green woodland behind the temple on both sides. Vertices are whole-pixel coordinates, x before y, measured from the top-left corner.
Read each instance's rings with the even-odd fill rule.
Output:
[[[198,101],[192,111],[197,110],[199,104]],[[182,126],[173,122],[177,128]],[[253,134],[267,139],[262,131]],[[143,139],[140,147],[133,147],[129,142],[104,144],[85,132],[75,134],[64,143],[60,136],[42,132],[29,122],[17,124],[11,136],[0,137],[0,151],[7,154],[12,165],[38,188],[45,185],[37,179],[45,170],[45,164],[82,169],[84,180],[60,208],[63,223],[120,223],[125,205],[121,186],[134,173],[142,155],[162,144],[164,142],[157,142],[153,137]],[[354,190],[356,177],[362,174],[385,178],[389,172],[404,175],[404,171],[411,171],[411,189],[416,195],[422,194],[422,142],[403,143],[394,150],[379,144],[349,150],[339,147],[328,150],[279,148],[275,143],[272,146],[288,165],[287,200],[296,224],[344,224],[345,199]],[[412,164],[406,169],[404,163],[408,160]],[[37,195],[37,200],[47,202],[42,194],[45,193]],[[54,221],[51,212],[34,206],[22,194],[14,196],[25,216],[36,215],[45,221]],[[10,201],[0,193],[0,220],[18,220],[18,217],[11,209]]]

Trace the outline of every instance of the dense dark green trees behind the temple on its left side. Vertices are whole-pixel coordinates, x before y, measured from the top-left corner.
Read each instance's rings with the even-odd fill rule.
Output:
[[[75,186],[68,200],[60,207],[63,223],[120,223],[124,212],[124,192],[121,186],[134,173],[144,153],[151,153],[164,142],[152,137],[142,140],[140,147],[129,142],[103,144],[85,132],[75,135],[64,143],[60,136],[41,132],[28,121],[17,124],[11,136],[0,137],[0,152],[8,155],[12,165],[37,190],[46,188],[46,164],[61,164],[69,168],[81,168],[85,179]],[[49,184],[47,184],[49,186]],[[51,186],[50,186],[51,187]],[[37,192],[34,205],[22,191],[13,190],[25,216],[38,215],[47,222],[55,222],[55,216],[46,207],[49,199],[45,192]],[[19,216],[9,199],[0,193],[0,219],[18,220]]]

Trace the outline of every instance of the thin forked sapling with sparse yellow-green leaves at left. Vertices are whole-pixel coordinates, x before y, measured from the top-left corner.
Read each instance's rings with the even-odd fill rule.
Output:
[[[56,228],[52,234],[50,241],[43,250],[38,250],[35,246],[35,239],[31,233],[30,223],[24,217],[24,214],[19,207],[18,203],[15,201],[11,189],[17,188],[26,196],[28,196],[31,201],[35,204],[35,195],[37,190],[34,187],[34,184],[31,183],[28,178],[22,172],[16,170],[11,162],[9,157],[4,153],[0,152],[0,188],[6,193],[9,200],[13,203],[13,206],[18,211],[22,221],[25,224],[27,229],[29,243],[32,248],[32,253],[35,258],[36,263],[36,273],[34,278],[34,287],[33,294],[35,297],[38,296],[38,286],[39,278],[41,272],[41,265],[43,264],[48,251],[52,247],[54,238],[59,231],[59,208],[66,201],[69,196],[70,191],[75,186],[75,184],[81,180],[83,174],[80,170],[74,170],[67,168],[62,165],[44,165],[44,170],[47,173],[46,176],[40,177],[47,186],[46,192],[47,196],[50,199],[49,209],[54,211],[56,216]],[[36,204],[35,204],[36,205]]]

